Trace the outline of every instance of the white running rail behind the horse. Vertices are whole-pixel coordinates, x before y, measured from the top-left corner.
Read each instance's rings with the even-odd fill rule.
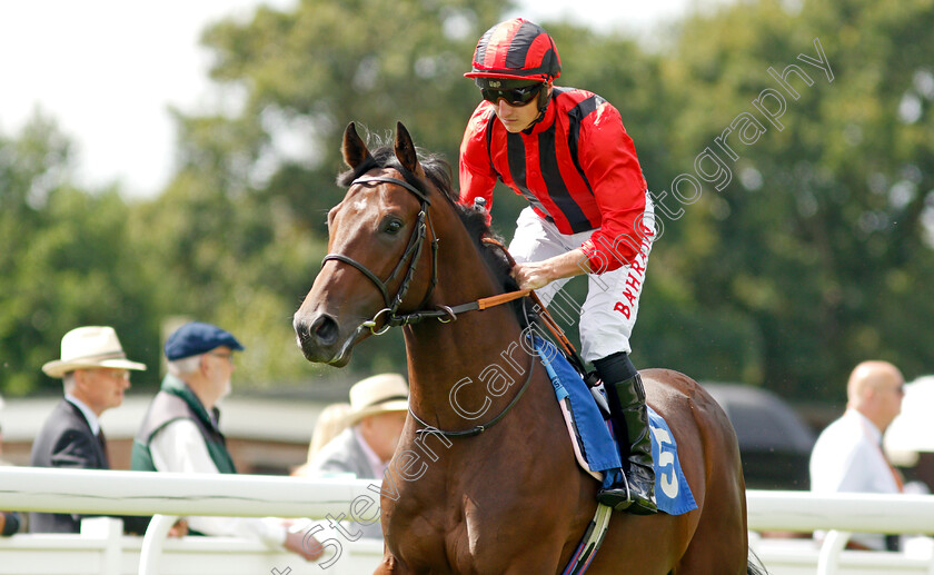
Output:
[[[171,516],[312,519],[327,515],[347,516],[354,502],[360,502],[361,497],[378,502],[379,489],[378,482],[347,478],[0,467],[2,509],[169,516],[152,522],[142,542],[139,537],[120,535],[119,527],[112,526],[115,522],[103,518],[86,521],[85,524],[90,525],[81,536],[2,538],[0,575],[320,573],[320,564],[300,565],[304,562],[295,555],[272,553],[258,543],[215,537],[165,541],[165,532],[172,523]],[[747,502],[752,532],[836,532],[831,533],[821,549],[809,539],[775,542],[759,538],[754,533],[752,546],[773,575],[934,575],[934,546],[913,555],[842,551],[849,532],[934,534],[934,496],[853,494],[818,497],[806,492],[751,490]],[[328,569],[329,574],[371,572],[381,556],[381,544],[376,541],[344,543],[344,557],[339,552],[336,557],[331,553],[330,558],[339,561],[332,562],[335,568]],[[97,558],[92,562],[79,558],[89,556],[85,552],[91,548]],[[11,557],[20,557],[20,565],[29,561],[29,571],[7,571],[21,568],[12,566],[8,561]],[[160,561],[168,562],[169,566],[163,565],[159,571]],[[282,562],[290,562],[289,566],[281,566]],[[78,567],[86,564],[90,566]],[[66,571],[59,571],[62,565],[68,565]],[[239,571],[240,567],[244,571]]]

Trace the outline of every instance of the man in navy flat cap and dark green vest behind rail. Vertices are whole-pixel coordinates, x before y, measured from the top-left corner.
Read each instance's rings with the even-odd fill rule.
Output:
[[[149,472],[235,474],[220,433],[216,404],[230,393],[234,351],[244,346],[228,331],[200,321],[181,326],[166,341],[169,374],[133,442],[132,468]],[[314,561],[324,547],[284,519],[189,517],[193,534],[256,538]]]

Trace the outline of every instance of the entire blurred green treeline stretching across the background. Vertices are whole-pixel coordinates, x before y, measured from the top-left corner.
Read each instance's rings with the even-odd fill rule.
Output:
[[[652,53],[539,22],[560,49],[558,83],[620,110],[658,200],[663,234],[633,337],[639,367],[808,399],[839,397],[870,357],[910,378],[930,369],[932,4],[727,4],[685,19]],[[39,367],[85,324],[115,326],[151,368],[135,381],[155,385],[161,330],[177,316],[241,338],[245,383],[328,374],[301,358],[289,319],[345,192],[340,133],[356,121],[376,143],[401,120],[456,169],[478,101],[463,72],[509,8],[322,0],[211,27],[211,77],[239,106],[175,112],[178,169],[149,201],[74,187],[71,143],[41,116],[0,135],[3,391],[56,386]],[[494,226],[507,240],[524,206],[497,190]],[[354,366],[405,369],[400,330],[370,338]]]

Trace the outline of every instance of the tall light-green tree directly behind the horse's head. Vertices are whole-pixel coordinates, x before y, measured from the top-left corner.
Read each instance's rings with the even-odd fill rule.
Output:
[[[289,317],[326,252],[327,210],[344,196],[340,133],[349,121],[379,137],[397,120],[456,162],[460,121],[476,103],[466,69],[498,2],[325,1],[259,9],[205,34],[211,77],[244,93],[235,115],[177,113],[180,168],[145,208],[171,314],[217,318],[250,349],[240,376],[300,380],[310,367]],[[451,115],[451,110],[461,110]],[[297,142],[297,143],[296,143]],[[252,345],[248,341],[251,341]],[[403,370],[401,334],[366,344],[355,367]]]

